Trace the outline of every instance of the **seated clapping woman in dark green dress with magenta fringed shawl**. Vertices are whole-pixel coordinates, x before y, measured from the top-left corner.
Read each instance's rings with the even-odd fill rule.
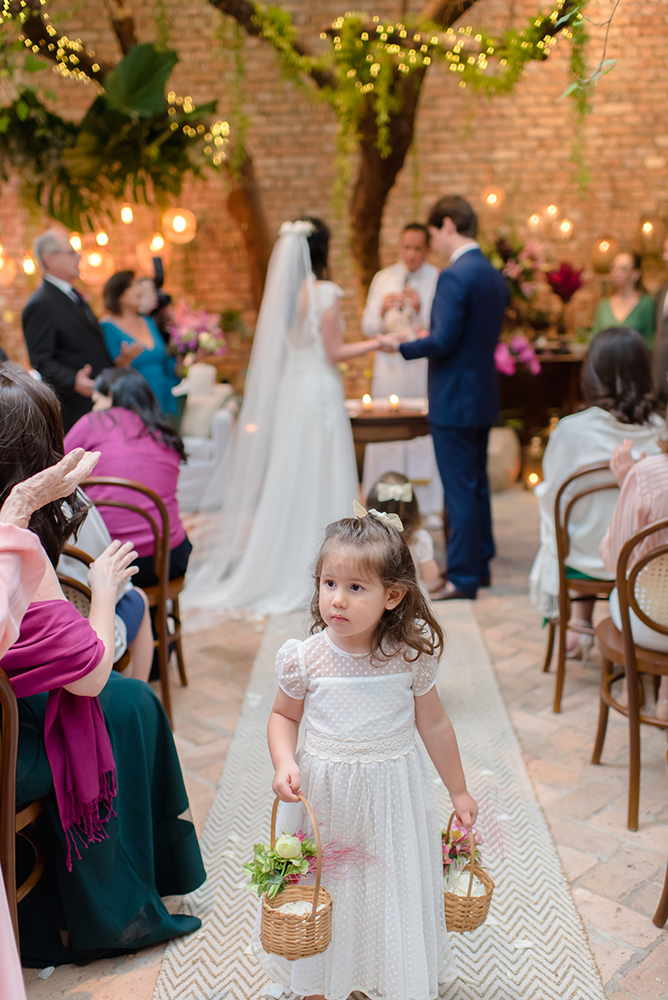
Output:
[[[0,499],[62,457],[57,398],[27,373],[0,369],[0,451]],[[70,492],[30,519],[49,561],[2,659],[19,699],[17,805],[46,805],[47,869],[19,904],[23,963],[37,968],[196,930],[198,919],[170,914],[161,896],[205,878],[194,827],[180,818],[188,797],[162,705],[111,669],[132,545],[114,541],[93,564],[89,619],[60,590],[53,567],[83,516]]]

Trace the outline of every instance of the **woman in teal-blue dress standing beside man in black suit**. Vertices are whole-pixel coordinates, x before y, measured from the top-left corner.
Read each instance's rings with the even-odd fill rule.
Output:
[[[164,413],[175,417],[178,404],[172,387],[179,381],[175,359],[167,354],[165,342],[150,316],[139,314],[141,283],[134,271],[116,271],[104,286],[106,313],[100,321],[104,342],[114,364],[131,364],[141,372]]]

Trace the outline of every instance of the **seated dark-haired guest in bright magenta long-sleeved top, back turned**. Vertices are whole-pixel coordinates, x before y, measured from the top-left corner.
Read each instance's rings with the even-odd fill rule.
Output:
[[[82,417],[65,438],[65,450],[72,448],[101,452],[96,475],[133,479],[158,494],[169,514],[169,578],[183,576],[192,551],[176,500],[179,466],[185,461],[185,451],[143,375],[133,368],[108,368],[102,372],[95,383],[93,412]],[[88,493],[96,501],[104,497],[137,504],[160,523],[158,511],[148,497],[130,494],[122,486],[91,486]],[[133,582],[139,587],[154,586],[158,582],[153,571],[155,539],[148,521],[141,514],[118,507],[101,506],[100,513],[111,537],[131,541],[139,553],[139,573]]]

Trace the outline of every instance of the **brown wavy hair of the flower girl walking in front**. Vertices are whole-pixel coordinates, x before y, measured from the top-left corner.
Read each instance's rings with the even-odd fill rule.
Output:
[[[414,663],[421,654],[440,656],[443,629],[420,589],[410,550],[396,528],[380,517],[346,517],[327,526],[325,541],[315,567],[315,592],[311,601],[311,635],[327,627],[320,614],[320,579],[325,556],[333,549],[347,548],[362,572],[380,579],[384,587],[405,587],[396,608],[386,609],[371,639],[371,653],[382,661],[396,656],[404,646],[415,651],[404,659]],[[381,665],[380,663],[378,664]]]

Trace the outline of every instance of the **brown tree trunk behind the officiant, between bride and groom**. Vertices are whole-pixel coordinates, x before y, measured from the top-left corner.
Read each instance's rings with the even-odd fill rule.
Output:
[[[415,130],[424,70],[413,71],[397,91],[401,110],[390,116],[390,155],[383,158],[376,145],[378,128],[372,107],[367,106],[360,123],[360,165],[350,199],[350,252],[356,264],[360,306],[366,302],[369,285],[380,270],[380,230],[385,202],[397,174],[404,165]]]

